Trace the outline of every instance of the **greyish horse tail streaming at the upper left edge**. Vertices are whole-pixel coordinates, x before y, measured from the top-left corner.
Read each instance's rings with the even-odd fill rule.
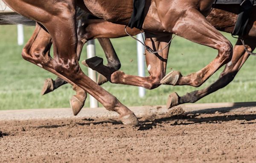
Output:
[[[26,17],[23,17],[22,15],[17,13],[0,14],[0,25],[8,25],[8,24],[23,24],[23,25],[34,26],[35,21],[30,20]]]

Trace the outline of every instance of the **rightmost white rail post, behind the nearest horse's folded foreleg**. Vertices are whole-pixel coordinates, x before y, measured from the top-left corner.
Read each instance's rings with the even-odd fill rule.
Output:
[[[144,37],[143,33],[143,37]],[[137,35],[137,39],[141,42],[144,42],[142,34]],[[137,58],[138,58],[138,75],[144,77],[145,76],[145,47],[137,41]],[[145,88],[139,87],[139,96],[145,96]]]

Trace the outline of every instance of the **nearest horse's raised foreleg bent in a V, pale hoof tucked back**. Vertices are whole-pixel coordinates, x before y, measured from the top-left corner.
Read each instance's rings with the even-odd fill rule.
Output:
[[[174,28],[170,28],[170,32],[192,42],[217,49],[218,56],[196,73],[182,76],[180,72],[173,71],[161,80],[161,84],[199,87],[232,58],[232,44],[230,41],[217,31],[198,10],[191,8],[186,12],[185,17],[182,17],[180,21],[178,20]],[[172,21],[168,20],[165,23],[168,27],[168,24],[171,24]]]

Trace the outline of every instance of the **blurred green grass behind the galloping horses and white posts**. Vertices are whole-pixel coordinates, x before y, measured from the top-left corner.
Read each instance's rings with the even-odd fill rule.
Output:
[[[26,40],[32,35],[33,29],[33,27],[25,27]],[[0,26],[0,34],[0,110],[69,107],[69,98],[74,92],[68,84],[45,96],[40,95],[44,79],[48,77],[55,79],[55,76],[22,59],[20,55],[22,47],[17,45],[17,27]],[[235,43],[236,39],[230,34],[225,36],[233,44]],[[112,39],[112,42],[122,63],[121,70],[127,74],[137,75],[136,42],[129,37]],[[105,59],[98,42],[96,42],[96,53]],[[211,48],[175,37],[169,52],[167,72],[171,71],[170,68],[180,70],[183,75],[196,72],[212,61],[216,55],[217,51]],[[85,56],[84,48],[81,59],[85,59]],[[231,84],[198,102],[255,101],[255,61],[256,58],[251,56]],[[84,72],[87,72],[86,67],[82,67]],[[134,86],[107,83],[103,87],[127,106],[162,105],[166,103],[167,96],[174,91],[184,95],[186,92],[206,87],[218,78],[221,70],[199,88],[163,85],[154,90],[147,90],[144,98],[138,97],[138,88]],[[89,100],[86,101],[85,106],[89,106]]]

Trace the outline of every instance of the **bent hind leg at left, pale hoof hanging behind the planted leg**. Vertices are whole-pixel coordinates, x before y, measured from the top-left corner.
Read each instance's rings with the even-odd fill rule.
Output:
[[[70,105],[72,107],[74,115],[77,115],[80,112],[81,108],[84,106],[84,101],[87,97],[87,94],[79,86],[77,86],[69,79],[54,70],[53,59],[49,55],[51,45],[52,42],[50,35],[46,31],[44,31],[44,29],[41,28],[38,24],[36,24],[35,31],[32,37],[23,48],[22,56],[25,60],[32,62],[35,65],[38,65],[39,67],[42,67],[57,76],[60,76],[62,79],[65,79],[67,82],[73,85],[73,89],[76,91],[76,95],[72,96],[72,98],[70,99]],[[46,84],[50,85],[51,83],[46,82]]]

